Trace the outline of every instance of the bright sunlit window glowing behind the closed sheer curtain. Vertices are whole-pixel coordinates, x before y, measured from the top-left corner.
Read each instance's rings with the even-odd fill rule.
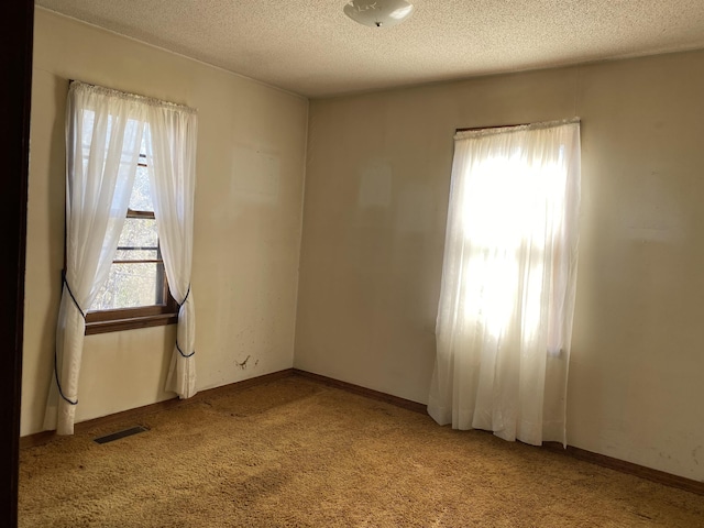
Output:
[[[464,174],[464,193],[457,202],[466,251],[462,276],[463,319],[482,324],[499,339],[512,320],[520,320],[525,339],[540,330],[548,317],[548,353],[559,355],[561,343],[554,321],[563,231],[564,145],[543,163],[530,160],[531,145],[512,145],[473,160]],[[548,156],[546,156],[548,157]],[[550,274],[547,279],[546,273]],[[541,299],[549,297],[546,306]],[[520,300],[519,300],[520,299]]]

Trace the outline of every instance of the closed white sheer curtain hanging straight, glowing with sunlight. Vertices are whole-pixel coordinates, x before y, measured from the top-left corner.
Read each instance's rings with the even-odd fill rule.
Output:
[[[565,438],[579,120],[461,132],[428,411],[539,446]]]

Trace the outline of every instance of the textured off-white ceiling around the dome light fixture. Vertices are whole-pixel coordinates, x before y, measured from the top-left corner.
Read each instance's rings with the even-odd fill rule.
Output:
[[[37,0],[307,97],[704,47],[704,0],[411,0],[400,25],[346,0]]]

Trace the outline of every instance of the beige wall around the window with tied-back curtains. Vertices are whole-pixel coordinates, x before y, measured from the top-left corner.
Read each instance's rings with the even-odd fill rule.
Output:
[[[198,109],[198,388],[290,367],[307,100],[43,9],[34,42],[22,435],[42,429],[52,375],[68,79]],[[174,327],[86,338],[77,419],[173,397],[173,342]]]

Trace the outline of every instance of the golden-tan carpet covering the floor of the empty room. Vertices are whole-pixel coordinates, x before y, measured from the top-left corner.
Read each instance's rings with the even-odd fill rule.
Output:
[[[20,526],[704,527],[704,498],[293,376],[21,451]]]

